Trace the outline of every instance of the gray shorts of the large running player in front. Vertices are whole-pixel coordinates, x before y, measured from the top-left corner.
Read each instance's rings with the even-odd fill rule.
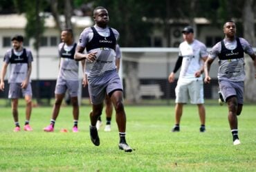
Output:
[[[101,76],[88,77],[88,89],[93,105],[103,103],[106,94],[122,90],[122,83],[116,70],[107,71]]]

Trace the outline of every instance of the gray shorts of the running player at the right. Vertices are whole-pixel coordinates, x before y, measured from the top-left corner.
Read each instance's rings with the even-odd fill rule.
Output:
[[[219,80],[219,89],[225,102],[228,97],[236,96],[237,103],[244,103],[244,81]]]

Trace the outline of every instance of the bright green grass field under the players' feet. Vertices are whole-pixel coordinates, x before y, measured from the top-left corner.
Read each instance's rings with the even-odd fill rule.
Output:
[[[99,131],[100,147],[89,137],[89,111],[80,108],[79,133],[72,133],[71,107],[62,107],[54,133],[44,133],[51,107],[33,109],[34,131],[14,133],[10,107],[1,107],[0,171],[256,171],[256,107],[245,105],[239,116],[241,144],[232,145],[227,107],[205,105],[206,132],[199,132],[196,106],[183,109],[181,131],[172,133],[174,105],[126,107],[127,142],[135,150],[118,149],[114,118],[112,131]],[[24,107],[19,119],[24,125]],[[104,120],[104,118],[102,118]],[[60,129],[68,129],[61,133]]]

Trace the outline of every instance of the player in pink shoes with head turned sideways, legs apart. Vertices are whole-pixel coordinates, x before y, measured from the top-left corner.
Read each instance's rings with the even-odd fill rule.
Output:
[[[74,59],[77,43],[73,41],[73,32],[70,29],[62,30],[61,39],[62,43],[59,44],[60,71],[55,86],[55,103],[53,105],[51,124],[48,125],[48,127],[45,127],[44,131],[54,131],[55,120],[59,115],[62,100],[68,90],[73,106],[73,132],[78,132],[77,123],[79,118],[79,105],[77,94],[79,87],[79,63]]]

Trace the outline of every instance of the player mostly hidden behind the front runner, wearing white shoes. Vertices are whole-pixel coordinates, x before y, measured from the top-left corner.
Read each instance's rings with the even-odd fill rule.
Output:
[[[119,71],[120,68],[120,58],[122,57],[122,53],[120,51],[120,46],[117,44],[116,45],[116,70],[117,72]],[[105,107],[105,114],[106,114],[106,126],[104,128],[104,131],[111,131],[111,117],[113,114],[113,104],[111,102],[111,99],[109,98],[108,95],[106,95],[106,98],[104,100],[104,103],[106,105]],[[99,117],[98,121],[96,123],[96,127],[99,130],[100,126],[102,126],[102,120]]]

